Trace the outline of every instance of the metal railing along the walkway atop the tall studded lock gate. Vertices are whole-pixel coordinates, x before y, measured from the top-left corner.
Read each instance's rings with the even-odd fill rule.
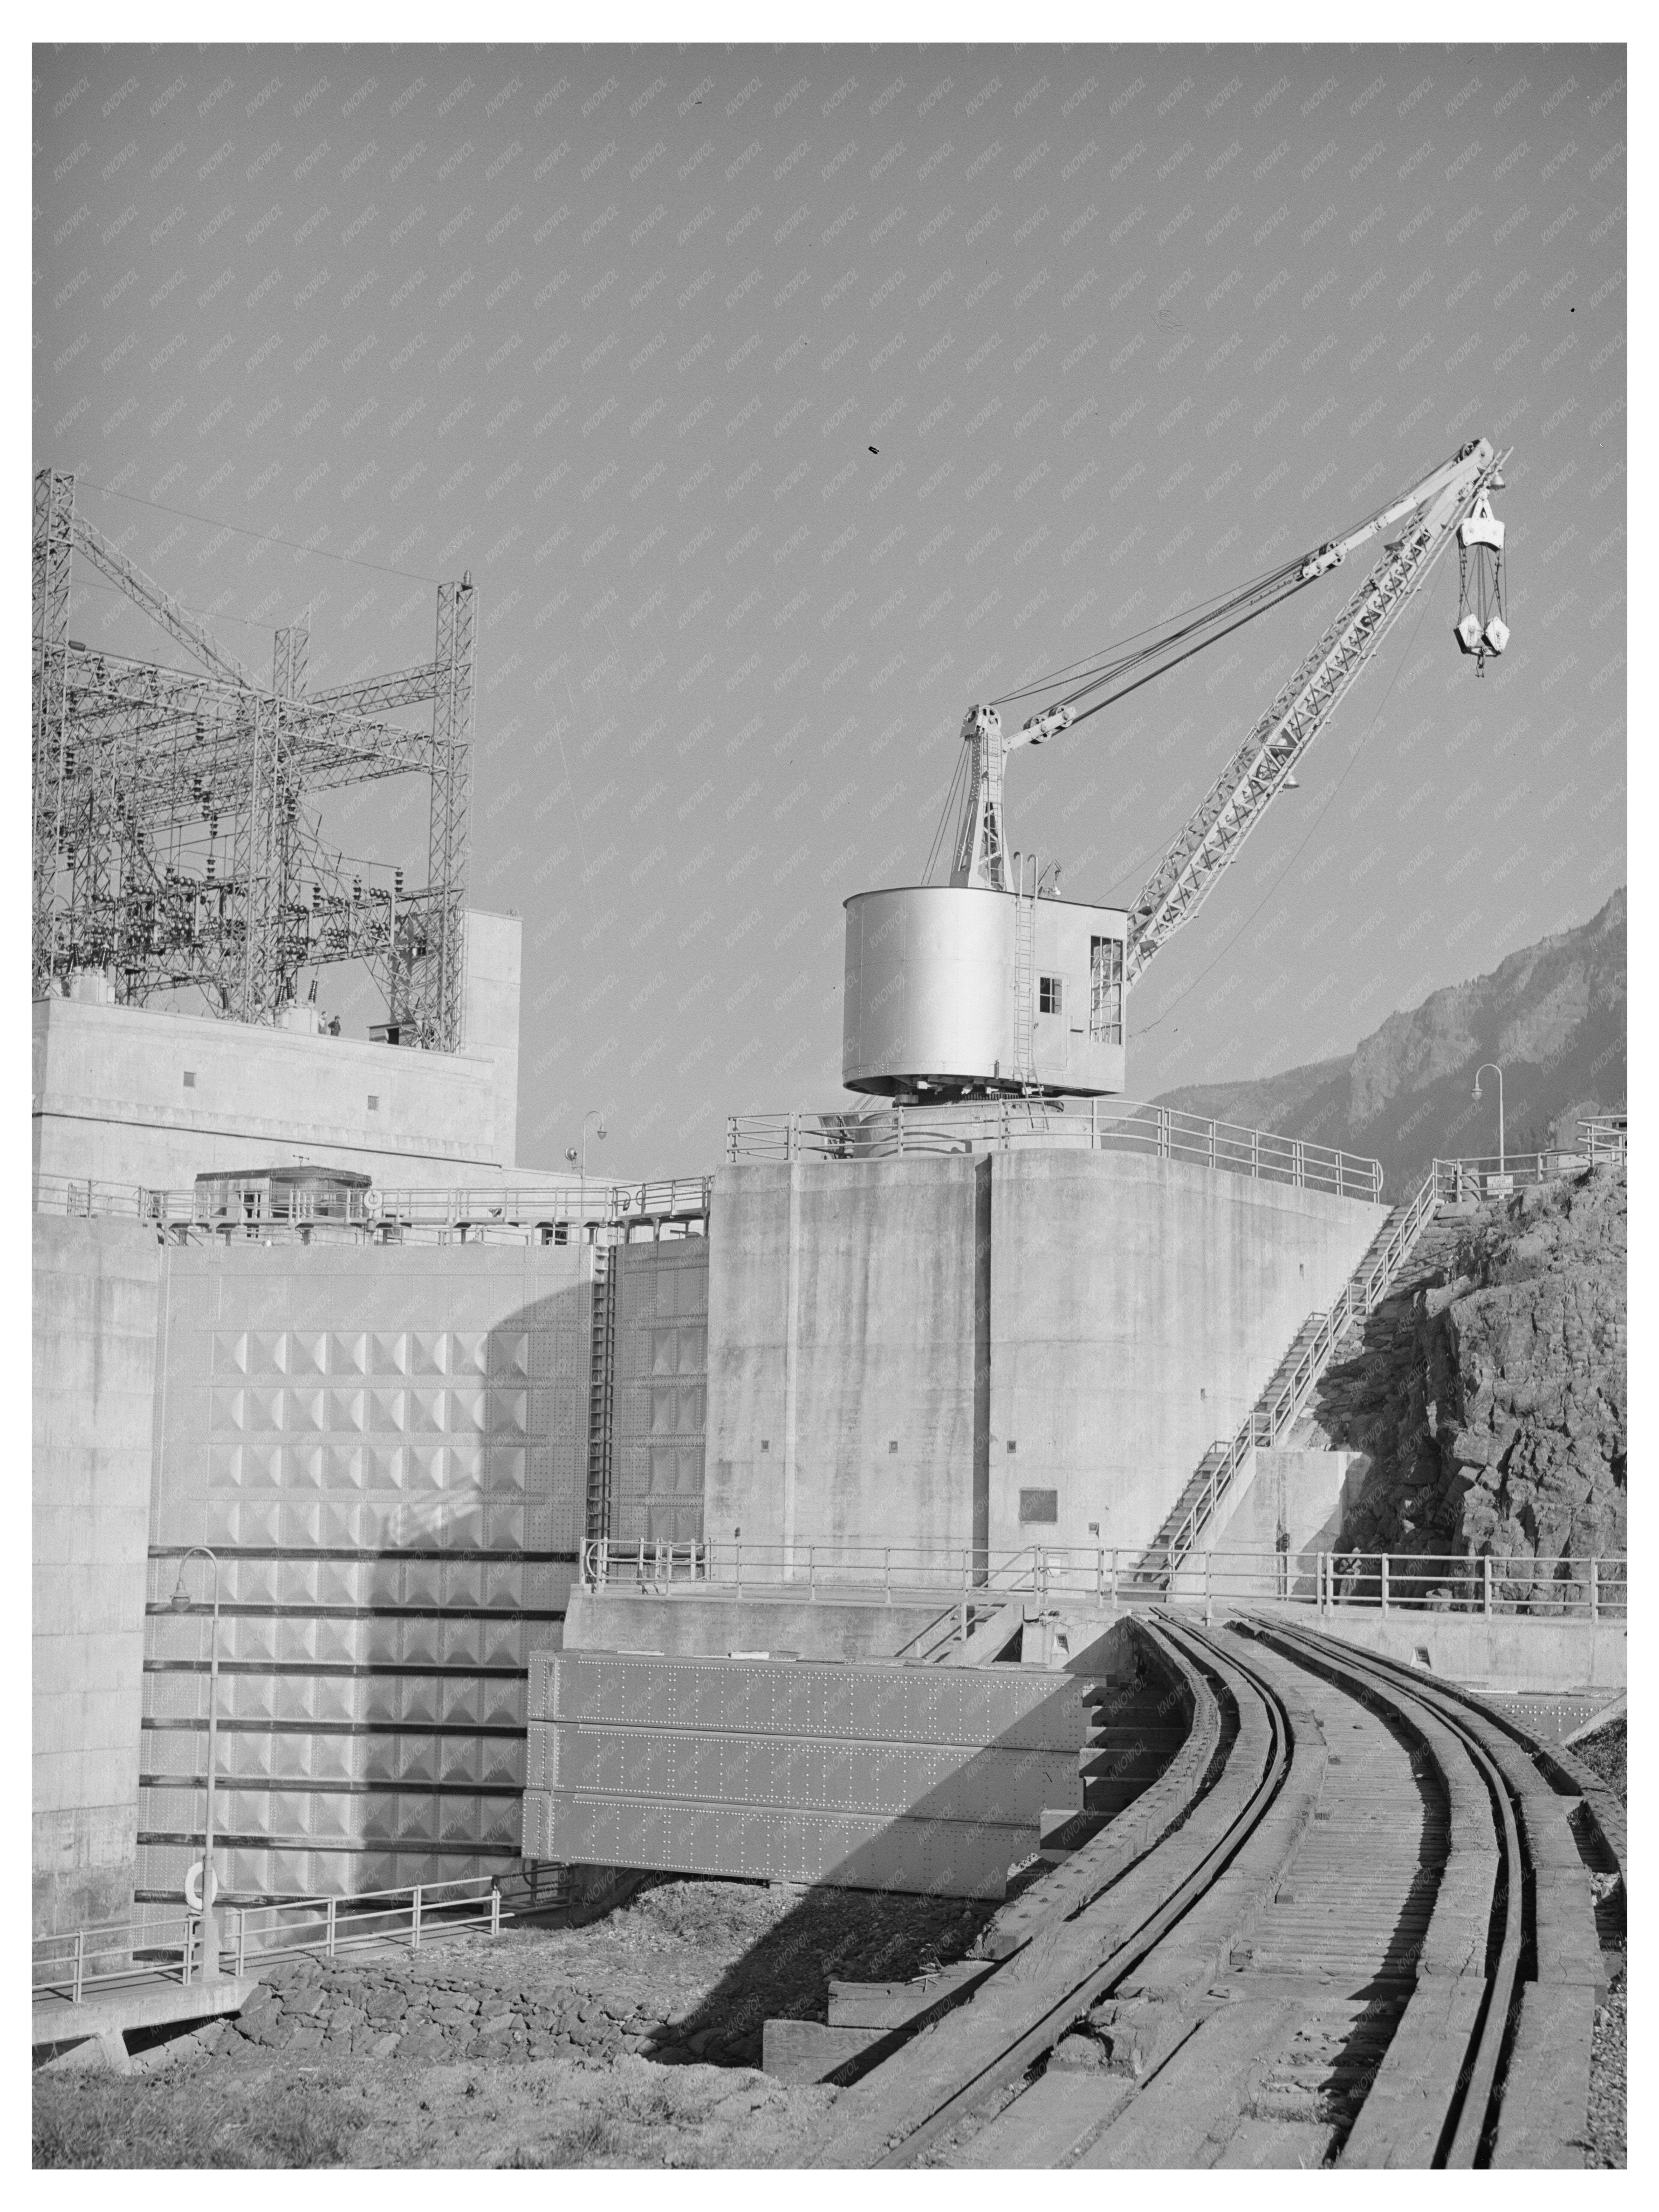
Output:
[[[520,1243],[580,1239],[584,1230],[622,1232],[641,1225],[695,1223],[708,1219],[710,1177],[666,1177],[644,1183],[580,1186],[465,1186],[385,1188],[352,1192],[349,1219],[312,1212],[223,1214],[195,1188],[159,1190],[142,1183],[102,1183],[66,1175],[35,1175],[33,1210],[86,1219],[153,1221],[170,1234],[265,1241],[312,1241],[338,1237],[352,1243],[380,1241],[487,1241],[511,1237]],[[564,1234],[557,1234],[564,1232]]]

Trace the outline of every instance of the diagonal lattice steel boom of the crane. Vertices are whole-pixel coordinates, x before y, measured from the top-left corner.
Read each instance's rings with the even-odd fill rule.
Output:
[[[1389,524],[1416,518],[1385,549],[1383,560],[1279,690],[1137,894],[1128,920],[1126,984],[1133,984],[1152,953],[1199,911],[1261,821],[1267,801],[1283,787],[1451,544],[1458,520],[1491,487],[1498,467],[1500,456],[1489,440],[1475,438],[1360,529],[1307,555],[1303,580],[1338,566]]]

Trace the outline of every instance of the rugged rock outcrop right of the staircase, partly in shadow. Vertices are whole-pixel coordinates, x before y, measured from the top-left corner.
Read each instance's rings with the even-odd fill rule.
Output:
[[[1626,1217],[1593,1168],[1438,1219],[1314,1396],[1307,1442],[1374,1460],[1347,1544],[1624,1553]]]

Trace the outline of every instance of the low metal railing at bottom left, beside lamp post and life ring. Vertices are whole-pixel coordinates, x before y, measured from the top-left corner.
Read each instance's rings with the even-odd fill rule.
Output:
[[[345,1898],[221,1905],[215,1916],[219,1971],[257,1973],[299,1951],[336,1958],[341,1951],[387,1942],[407,1942],[418,1951],[422,1942],[469,1929],[489,1929],[498,1936],[504,1920],[549,1911],[566,1898],[564,1867],[531,1865],[515,1874],[471,1874]],[[142,1918],[35,1936],[31,1991],[35,2002],[62,1997],[82,2004],[88,1995],[144,1982],[197,1982],[201,1966],[201,1913],[150,1911]]]

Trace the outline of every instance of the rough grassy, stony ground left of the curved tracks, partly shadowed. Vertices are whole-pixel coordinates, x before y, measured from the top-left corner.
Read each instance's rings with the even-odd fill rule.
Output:
[[[761,2075],[761,2022],[949,1964],[991,1911],[657,1880],[584,1929],[296,1958],[135,2075],[35,2073],[35,2166],[799,2166],[836,2093]]]

